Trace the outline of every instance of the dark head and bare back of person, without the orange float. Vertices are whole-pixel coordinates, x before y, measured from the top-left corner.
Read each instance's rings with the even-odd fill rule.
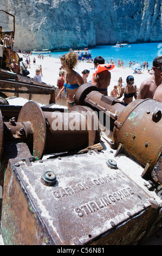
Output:
[[[99,64],[105,64],[105,59],[103,57],[98,56],[94,58],[94,66],[98,67]],[[111,72],[108,70],[102,71],[94,76],[94,85],[100,89],[100,93],[107,95],[107,87],[109,86],[111,81]]]

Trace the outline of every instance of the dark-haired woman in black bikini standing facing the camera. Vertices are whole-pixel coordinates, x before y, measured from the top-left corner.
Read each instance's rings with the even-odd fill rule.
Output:
[[[137,86],[134,84],[134,77],[127,76],[126,83],[126,86],[121,88],[120,95],[116,97],[116,99],[120,99],[124,94],[124,98],[122,99],[122,105],[124,106],[127,106],[133,101],[133,96],[135,100],[137,99]]]

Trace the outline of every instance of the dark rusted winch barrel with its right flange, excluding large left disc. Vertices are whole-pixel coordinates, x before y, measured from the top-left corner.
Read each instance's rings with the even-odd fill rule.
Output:
[[[100,142],[99,120],[92,109],[74,106],[67,113],[44,112],[47,143],[44,154],[84,149]]]

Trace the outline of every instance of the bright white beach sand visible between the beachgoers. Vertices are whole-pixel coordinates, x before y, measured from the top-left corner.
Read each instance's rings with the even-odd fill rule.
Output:
[[[19,53],[20,57],[23,57],[23,61],[25,61],[26,57],[24,54]],[[33,64],[33,58],[35,57],[36,63],[35,65]],[[116,64],[116,63],[115,63]],[[30,55],[30,68],[28,68],[30,72],[30,77],[34,77],[35,75],[35,70],[39,67],[42,66],[42,82],[47,83],[51,86],[57,87],[57,77],[59,77],[59,68],[61,66],[60,59],[54,58],[54,57],[49,57],[44,55],[43,60],[38,58],[37,55]],[[150,67],[151,68],[151,67]],[[84,69],[88,69],[89,76],[88,76],[88,82],[92,80],[92,75],[95,72],[94,70],[94,64],[93,63],[87,63],[86,61],[84,62],[78,62],[77,66],[75,67],[75,71],[77,71],[81,76],[82,76],[82,71]],[[142,81],[150,77],[151,75],[148,74],[146,70],[142,70],[142,74],[133,74],[134,70],[131,68],[126,68],[125,66],[118,68],[118,65],[115,66],[113,70],[111,70],[111,83],[108,87],[108,96],[111,95],[111,90],[114,88],[115,85],[118,84],[118,79],[119,77],[122,77],[123,80],[123,85],[126,83],[126,77],[128,75],[132,75],[134,77],[134,83],[137,85],[137,88],[140,87],[140,84]],[[16,100],[16,99],[15,99]],[[28,100],[25,99],[17,99],[16,104],[19,102],[20,105],[23,105],[25,102]],[[122,100],[122,98],[120,99]],[[9,103],[14,104],[14,99],[9,99]],[[59,102],[56,101],[56,105],[59,104]]]

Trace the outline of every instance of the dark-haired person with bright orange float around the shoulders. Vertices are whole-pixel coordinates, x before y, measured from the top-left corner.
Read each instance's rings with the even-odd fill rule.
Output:
[[[112,70],[115,65],[106,64],[105,59],[101,56],[95,57],[93,63],[96,72],[93,74],[92,83],[99,88],[100,93],[107,95],[107,87],[111,81],[111,72],[109,70]]]

